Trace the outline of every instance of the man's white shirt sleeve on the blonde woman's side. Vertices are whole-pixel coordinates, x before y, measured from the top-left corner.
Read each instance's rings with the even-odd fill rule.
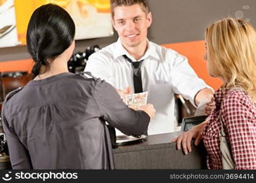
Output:
[[[184,98],[195,106],[195,95],[203,88],[211,88],[206,85],[203,79],[200,79],[192,67],[189,65],[187,58],[177,52],[167,57],[171,61],[171,84],[175,93],[181,94]],[[213,90],[213,88],[211,88]],[[214,90],[213,90],[214,91]]]

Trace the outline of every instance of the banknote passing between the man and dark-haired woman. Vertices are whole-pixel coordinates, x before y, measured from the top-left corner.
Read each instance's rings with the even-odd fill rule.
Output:
[[[141,106],[146,105],[147,99],[148,99],[148,91],[141,92],[141,93],[134,93],[134,94],[126,95],[126,104],[129,107],[138,109]]]

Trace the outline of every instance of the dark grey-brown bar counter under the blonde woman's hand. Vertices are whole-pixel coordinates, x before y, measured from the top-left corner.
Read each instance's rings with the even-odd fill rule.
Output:
[[[118,146],[113,149],[116,169],[206,169],[206,150],[200,145],[192,145],[192,152],[185,155],[176,149],[171,139],[180,132],[149,135],[145,140],[133,145]]]

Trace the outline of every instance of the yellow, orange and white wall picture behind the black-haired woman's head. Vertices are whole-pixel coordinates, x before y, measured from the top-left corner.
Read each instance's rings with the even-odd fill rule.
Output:
[[[113,35],[110,0],[0,0],[0,47],[26,45],[32,13],[48,3],[69,12],[75,22],[75,40]]]

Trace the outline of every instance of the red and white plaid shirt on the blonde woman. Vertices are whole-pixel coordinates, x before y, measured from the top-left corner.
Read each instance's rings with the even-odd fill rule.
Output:
[[[235,169],[256,169],[256,107],[247,93],[239,88],[222,89],[214,94],[216,109],[209,116],[203,135],[208,152],[209,169],[222,169],[219,149],[221,118],[232,149]]]

